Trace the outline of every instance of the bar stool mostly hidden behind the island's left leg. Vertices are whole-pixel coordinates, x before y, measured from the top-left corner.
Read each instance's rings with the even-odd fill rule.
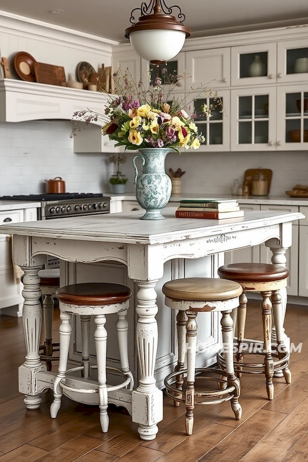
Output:
[[[51,371],[52,361],[59,360],[59,355],[53,356],[55,352],[59,352],[59,342],[52,342],[52,324],[53,324],[53,308],[55,292],[60,286],[60,269],[40,269],[38,276],[41,278],[40,288],[43,296],[43,319],[45,340],[44,344],[40,345],[41,361],[45,361],[47,371]]]

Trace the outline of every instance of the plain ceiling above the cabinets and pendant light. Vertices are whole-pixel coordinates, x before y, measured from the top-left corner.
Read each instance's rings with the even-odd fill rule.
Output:
[[[35,20],[125,42],[133,8],[140,0],[1,0],[0,9]],[[145,2],[149,4],[149,0]],[[165,0],[171,6],[174,0]],[[253,28],[308,24],[307,0],[177,0],[192,36]],[[51,13],[51,10],[61,10]],[[174,10],[176,14],[177,10]],[[274,24],[275,23],[275,24]]]

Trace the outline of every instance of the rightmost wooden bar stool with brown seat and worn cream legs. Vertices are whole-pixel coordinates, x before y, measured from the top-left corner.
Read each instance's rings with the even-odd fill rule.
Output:
[[[243,287],[237,311],[237,352],[235,354],[235,370],[241,373],[265,374],[268,399],[274,398],[273,375],[283,372],[285,381],[291,383],[291,372],[288,370],[289,353],[283,343],[282,305],[279,290],[286,287],[288,270],[280,265],[265,263],[232,263],[218,268],[218,275],[227,280],[236,281]],[[247,292],[260,292],[262,296],[263,344],[255,341],[244,341]],[[272,313],[273,312],[273,313]],[[272,345],[272,314],[277,333],[277,346]],[[260,342],[259,342],[260,343]],[[263,363],[244,362],[245,355],[262,355]],[[220,367],[225,369],[225,354],[217,355]]]

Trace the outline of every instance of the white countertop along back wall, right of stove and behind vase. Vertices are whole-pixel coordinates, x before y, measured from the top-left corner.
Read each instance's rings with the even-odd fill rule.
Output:
[[[136,196],[133,192],[127,192],[126,194],[112,195],[112,193],[104,193],[105,196],[110,196],[111,201],[136,201]],[[182,194],[182,195],[171,195],[169,202],[179,202],[181,199],[197,199],[201,198],[200,194]],[[221,195],[203,195],[206,197],[213,198],[224,198],[224,199],[237,199],[241,204],[279,204],[279,205],[297,205],[297,206],[308,206],[308,198],[293,198],[288,196],[231,196],[227,194]]]

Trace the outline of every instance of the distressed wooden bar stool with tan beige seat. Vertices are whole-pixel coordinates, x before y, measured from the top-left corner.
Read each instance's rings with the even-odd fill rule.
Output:
[[[186,406],[185,427],[187,435],[192,434],[194,425],[195,405],[210,405],[223,401],[231,401],[235,418],[239,420],[242,408],[239,404],[240,383],[234,373],[233,365],[233,321],[230,312],[238,306],[239,295],[242,293],[240,284],[233,281],[210,278],[185,278],[168,281],[163,286],[165,303],[172,309],[179,310],[177,315],[178,332],[178,364],[175,372],[165,378],[166,394],[170,396],[175,405],[184,402]],[[199,312],[221,312],[222,339],[225,349],[227,373],[213,368],[200,368],[195,371],[197,322]],[[186,345],[185,345],[186,329]],[[185,347],[187,369],[184,369]],[[211,373],[210,376],[201,376],[196,379],[213,380],[219,383],[218,390],[196,392],[195,372]],[[227,375],[226,379],[215,377],[215,374]],[[184,378],[186,387],[183,389]],[[202,401],[195,397],[205,398]]]

